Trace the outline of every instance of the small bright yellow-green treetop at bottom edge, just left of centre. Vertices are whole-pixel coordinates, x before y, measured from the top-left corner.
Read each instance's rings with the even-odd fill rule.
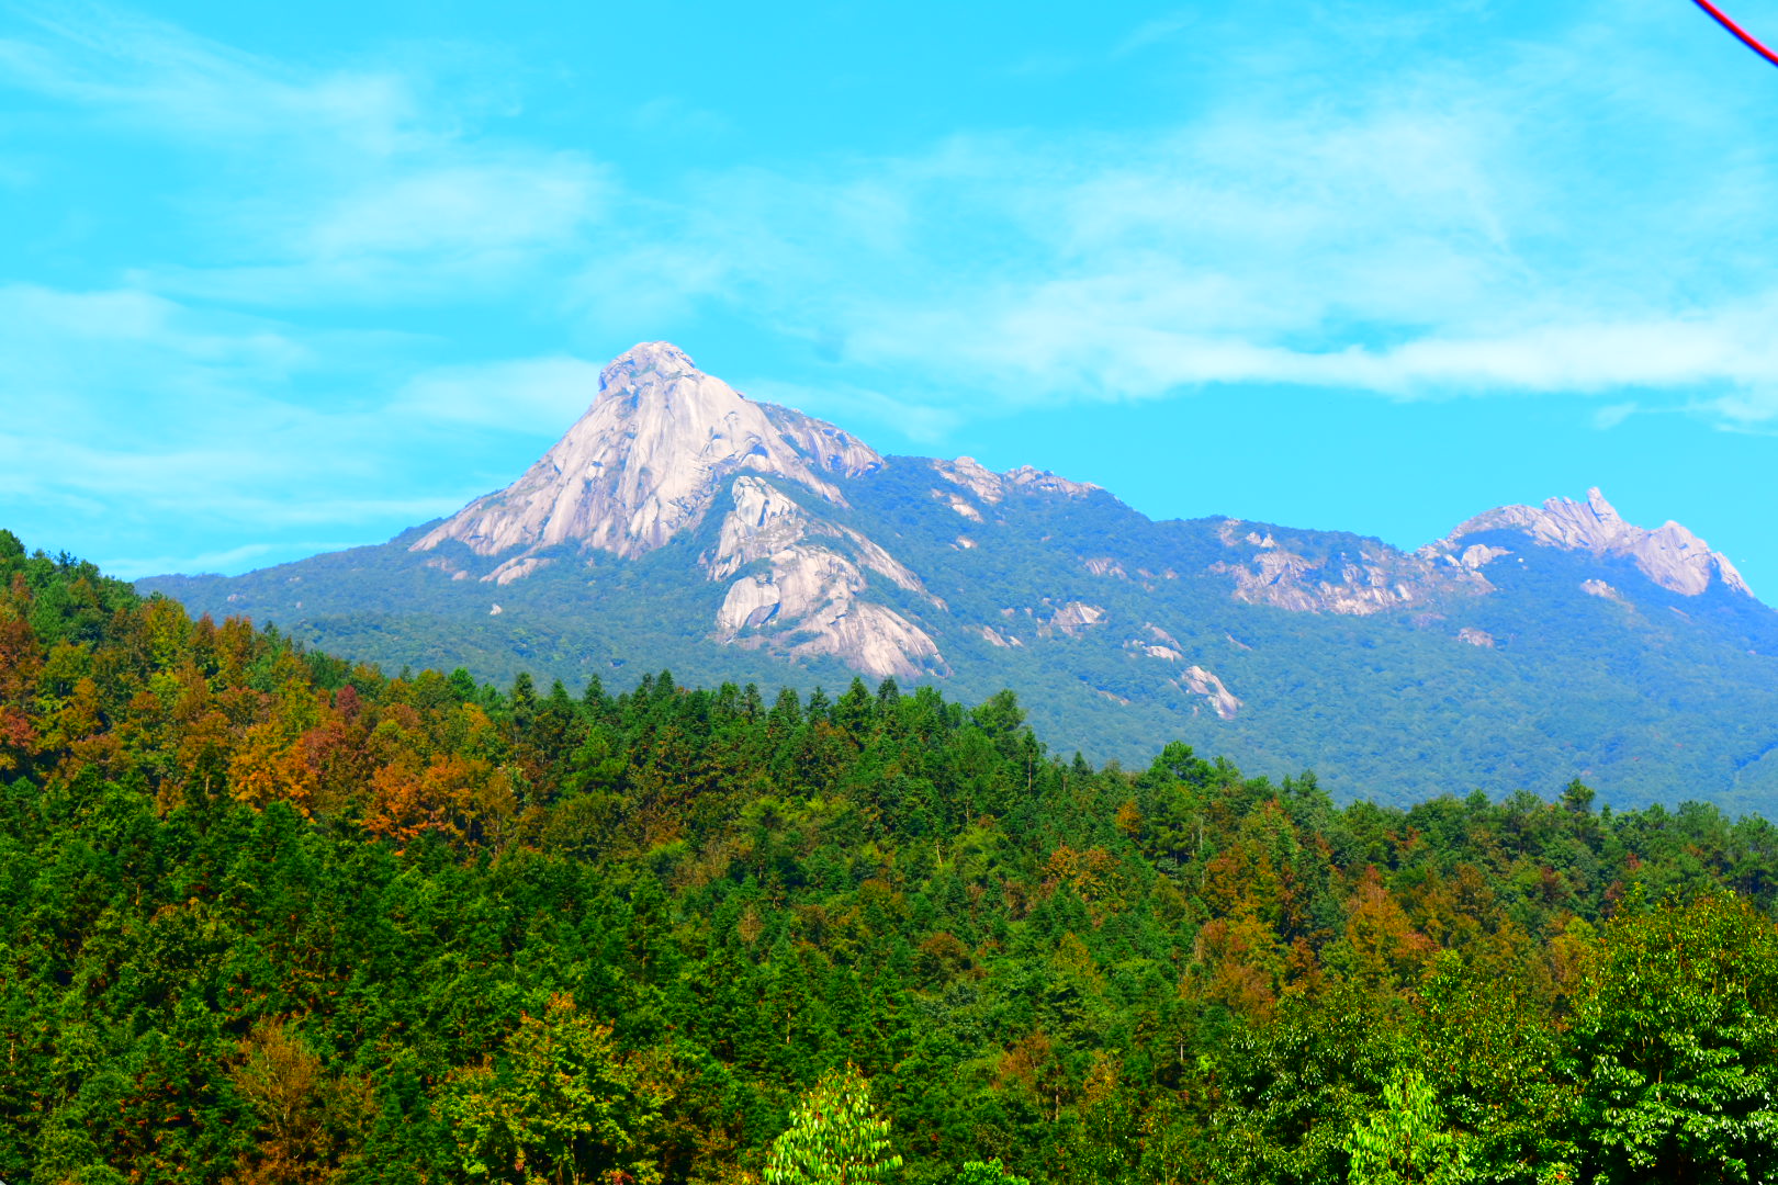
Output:
[[[868,1185],[901,1167],[889,1151],[889,1121],[871,1109],[869,1082],[855,1066],[830,1070],[772,1141],[766,1185]]]

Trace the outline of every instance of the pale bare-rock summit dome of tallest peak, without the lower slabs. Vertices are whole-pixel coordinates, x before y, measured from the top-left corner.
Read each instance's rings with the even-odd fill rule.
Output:
[[[823,474],[878,465],[839,428],[754,403],[677,346],[653,341],[605,368],[592,407],[525,476],[469,503],[412,551],[455,538],[484,556],[560,544],[640,556],[697,526],[729,473],[773,474],[843,503]]]

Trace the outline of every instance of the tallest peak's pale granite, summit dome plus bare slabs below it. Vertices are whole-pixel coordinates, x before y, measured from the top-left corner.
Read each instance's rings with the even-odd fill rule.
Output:
[[[788,492],[845,506],[829,478],[857,478],[882,464],[857,437],[754,403],[677,346],[653,341],[605,368],[592,407],[525,476],[464,506],[411,549],[457,540],[477,554],[505,556],[484,579],[509,585],[546,567],[549,560],[533,553],[549,547],[647,554],[702,524],[727,492],[733,508],[701,560],[711,581],[740,576],[717,611],[717,641],[786,657],[830,654],[877,677],[930,673],[942,668],[937,643],[866,592],[875,576],[942,602],[880,545]]]

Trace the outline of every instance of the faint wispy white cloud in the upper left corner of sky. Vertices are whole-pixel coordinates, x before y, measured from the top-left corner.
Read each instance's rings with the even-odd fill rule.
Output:
[[[0,82],[215,162],[187,199],[197,247],[130,268],[142,286],[252,306],[498,298],[583,247],[610,199],[585,153],[480,133],[482,89],[501,84],[475,64],[446,89],[423,60],[302,69],[100,5],[34,16],[34,36],[0,41]]]

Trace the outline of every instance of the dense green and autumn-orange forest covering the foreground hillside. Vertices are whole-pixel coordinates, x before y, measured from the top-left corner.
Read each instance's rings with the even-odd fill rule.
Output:
[[[1542,789],[389,677],[0,531],[0,1178],[1773,1180],[1778,830]]]

